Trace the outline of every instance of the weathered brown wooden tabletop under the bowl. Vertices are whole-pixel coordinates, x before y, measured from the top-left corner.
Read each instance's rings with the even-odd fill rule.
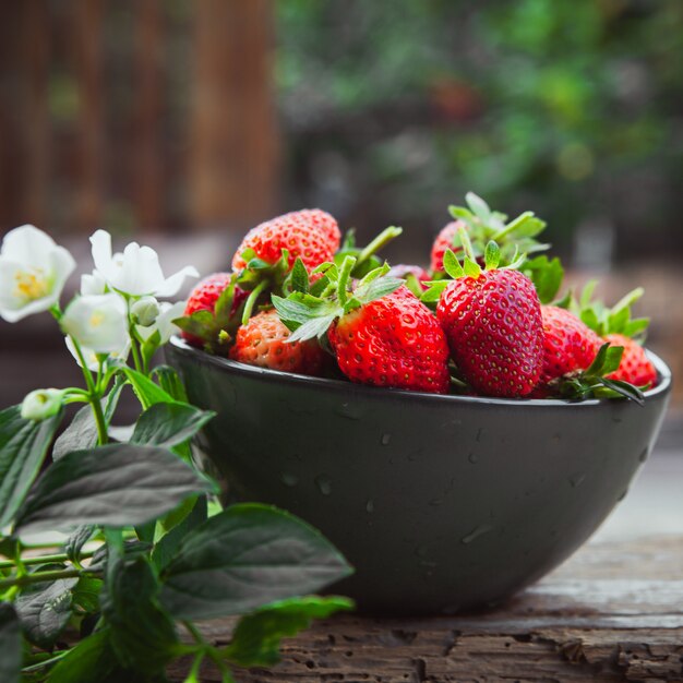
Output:
[[[229,620],[204,624],[229,640]],[[182,681],[179,667],[171,681]],[[430,619],[343,615],[239,682],[683,681],[683,535],[589,543],[505,606]],[[202,681],[220,681],[206,666]]]

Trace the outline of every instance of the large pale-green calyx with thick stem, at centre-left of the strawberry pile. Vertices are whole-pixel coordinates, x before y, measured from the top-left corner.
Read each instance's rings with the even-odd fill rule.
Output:
[[[347,255],[337,266],[325,263],[315,268],[324,273],[313,287],[296,289],[288,297],[274,295],[273,305],[283,323],[291,331],[288,342],[322,339],[332,323],[357,308],[392,293],[404,283],[388,277],[388,264],[367,273],[354,284],[356,256]]]

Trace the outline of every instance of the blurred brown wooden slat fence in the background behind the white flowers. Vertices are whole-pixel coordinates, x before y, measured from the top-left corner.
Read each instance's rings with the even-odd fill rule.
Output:
[[[266,217],[271,14],[269,0],[1,2],[0,230]]]

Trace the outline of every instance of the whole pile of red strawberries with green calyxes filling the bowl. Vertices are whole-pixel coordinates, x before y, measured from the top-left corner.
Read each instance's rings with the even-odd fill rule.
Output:
[[[657,382],[632,319],[637,289],[612,309],[558,299],[563,269],[538,255],[546,224],[515,219],[474,193],[436,237],[431,268],[376,256],[399,228],[364,248],[337,221],[303,209],[253,228],[190,296],[183,337],[232,360],[374,386],[495,397],[623,395]]]

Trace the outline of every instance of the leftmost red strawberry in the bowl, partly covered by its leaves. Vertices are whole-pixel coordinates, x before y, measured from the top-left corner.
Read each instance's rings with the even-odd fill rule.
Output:
[[[229,326],[229,316],[235,313],[247,298],[247,292],[239,287],[235,287],[232,304],[230,307],[228,319],[216,320],[215,307],[220,295],[229,287],[233,277],[232,273],[214,273],[200,281],[192,292],[185,304],[185,320],[200,311],[207,311],[211,315],[202,323],[188,323],[181,334],[182,337],[193,346],[202,347],[205,344],[214,344],[221,329]]]

